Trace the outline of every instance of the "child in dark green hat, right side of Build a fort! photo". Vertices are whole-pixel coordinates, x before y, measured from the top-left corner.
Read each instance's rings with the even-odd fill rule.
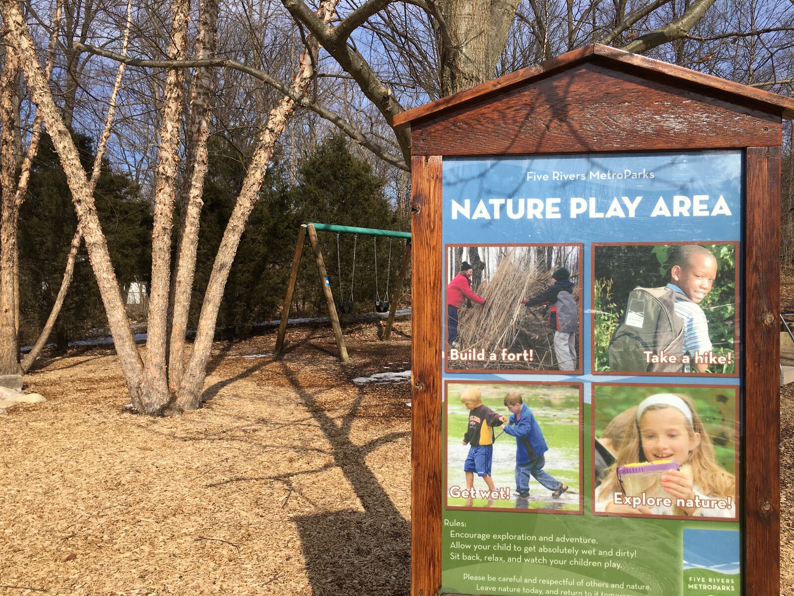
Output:
[[[542,294],[522,300],[526,306],[549,305],[549,327],[554,330],[554,355],[559,370],[576,370],[576,331],[579,330],[579,308],[573,298],[571,273],[560,267],[552,273],[551,286]]]

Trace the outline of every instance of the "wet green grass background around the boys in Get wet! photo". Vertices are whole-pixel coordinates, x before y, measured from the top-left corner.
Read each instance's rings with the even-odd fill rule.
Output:
[[[461,404],[461,393],[470,384],[450,383],[447,393],[447,486],[465,486],[463,463],[468,455],[468,445],[461,444],[468,425],[468,410]],[[551,491],[534,478],[530,479],[530,496],[515,497],[515,438],[507,433],[494,443],[491,475],[497,489],[508,487],[509,499],[497,499],[489,505],[486,498],[447,497],[453,507],[494,507],[498,509],[561,509],[576,510],[580,505],[580,445],[579,445],[579,388],[576,385],[478,384],[483,394],[483,404],[503,416],[510,416],[504,405],[508,391],[522,394],[524,404],[532,410],[541,427],[549,451],[545,454],[544,470],[557,480],[570,486],[568,493],[552,499]],[[499,435],[501,428],[495,428]],[[485,482],[476,477],[474,487],[485,490]]]

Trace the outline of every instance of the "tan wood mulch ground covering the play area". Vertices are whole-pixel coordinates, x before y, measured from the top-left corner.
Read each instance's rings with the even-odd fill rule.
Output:
[[[275,335],[218,343],[209,401],[179,418],[125,410],[110,350],[45,361],[26,389],[48,401],[0,416],[0,594],[407,594],[410,389],[351,382],[410,367],[407,321],[396,331],[349,330],[348,363],[325,328],[291,329],[281,361]],[[781,594],[792,454],[788,385]]]

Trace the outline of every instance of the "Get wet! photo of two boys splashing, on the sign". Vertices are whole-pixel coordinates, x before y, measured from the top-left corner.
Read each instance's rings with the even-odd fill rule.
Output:
[[[580,384],[445,389],[448,509],[582,512]]]

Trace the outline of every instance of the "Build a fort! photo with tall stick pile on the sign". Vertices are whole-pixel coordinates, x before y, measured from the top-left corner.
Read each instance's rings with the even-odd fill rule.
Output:
[[[581,372],[583,250],[446,246],[446,370]]]

